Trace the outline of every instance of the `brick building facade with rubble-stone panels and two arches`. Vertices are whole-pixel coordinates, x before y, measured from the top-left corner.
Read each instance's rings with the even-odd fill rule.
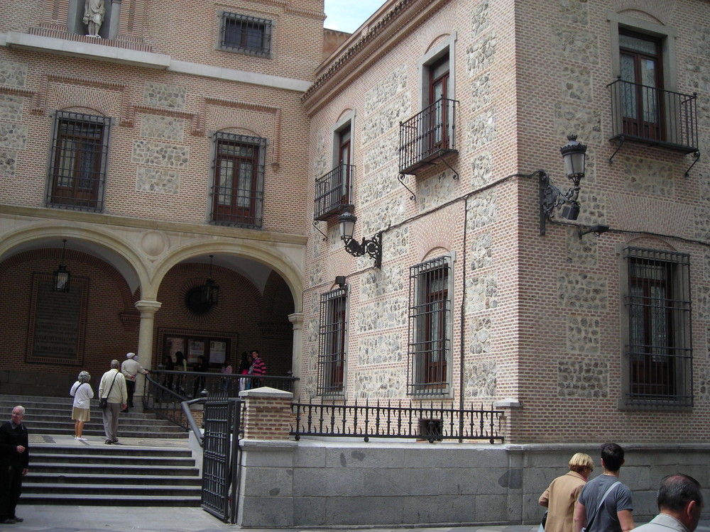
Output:
[[[705,1],[388,0],[324,62],[322,0],[107,1],[101,40],[79,4],[0,6],[3,387],[182,338],[302,397],[497,404],[508,443],[706,442]],[[62,152],[89,133],[91,193]],[[541,235],[567,135],[581,213]]]

